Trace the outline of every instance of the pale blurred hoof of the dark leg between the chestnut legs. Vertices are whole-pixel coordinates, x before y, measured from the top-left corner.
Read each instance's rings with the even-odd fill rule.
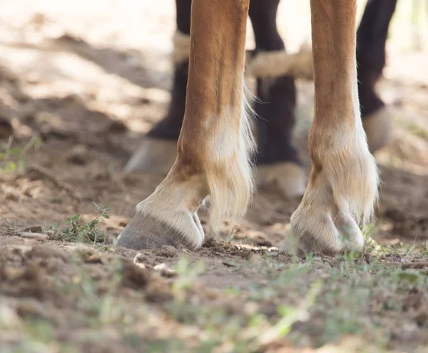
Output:
[[[285,198],[301,197],[306,189],[305,171],[295,163],[258,165],[257,186],[275,185]]]

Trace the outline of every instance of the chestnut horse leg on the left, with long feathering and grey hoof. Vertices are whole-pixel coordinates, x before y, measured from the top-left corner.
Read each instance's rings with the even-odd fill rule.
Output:
[[[254,150],[243,92],[248,5],[249,0],[193,0],[177,158],[154,193],[137,205],[118,245],[200,247],[204,232],[197,211],[208,196],[214,230],[225,215],[245,213]]]

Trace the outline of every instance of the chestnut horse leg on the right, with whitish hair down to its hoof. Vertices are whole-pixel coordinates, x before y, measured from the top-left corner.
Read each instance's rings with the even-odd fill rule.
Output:
[[[281,250],[336,254],[361,250],[359,225],[377,200],[377,167],[360,117],[356,0],[311,0],[315,117],[310,180]]]

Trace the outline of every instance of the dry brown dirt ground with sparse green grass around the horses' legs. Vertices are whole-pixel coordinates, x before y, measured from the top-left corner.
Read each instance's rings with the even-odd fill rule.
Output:
[[[0,352],[428,352],[428,47],[411,11],[379,82],[394,131],[367,247],[299,259],[277,253],[299,200],[275,188],[196,252],[114,247],[163,178],[121,174],[168,106],[174,6],[154,3],[0,4]],[[293,51],[310,27],[290,9]],[[298,88],[309,170],[313,88]]]

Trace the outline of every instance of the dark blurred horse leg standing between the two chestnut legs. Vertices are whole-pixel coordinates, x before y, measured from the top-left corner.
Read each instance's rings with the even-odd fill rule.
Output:
[[[251,0],[249,16],[255,36],[255,55],[262,51],[285,51],[277,31],[280,0]],[[258,78],[255,102],[258,128],[257,183],[276,183],[285,197],[305,193],[305,173],[292,145],[295,125],[296,86],[292,76]]]

